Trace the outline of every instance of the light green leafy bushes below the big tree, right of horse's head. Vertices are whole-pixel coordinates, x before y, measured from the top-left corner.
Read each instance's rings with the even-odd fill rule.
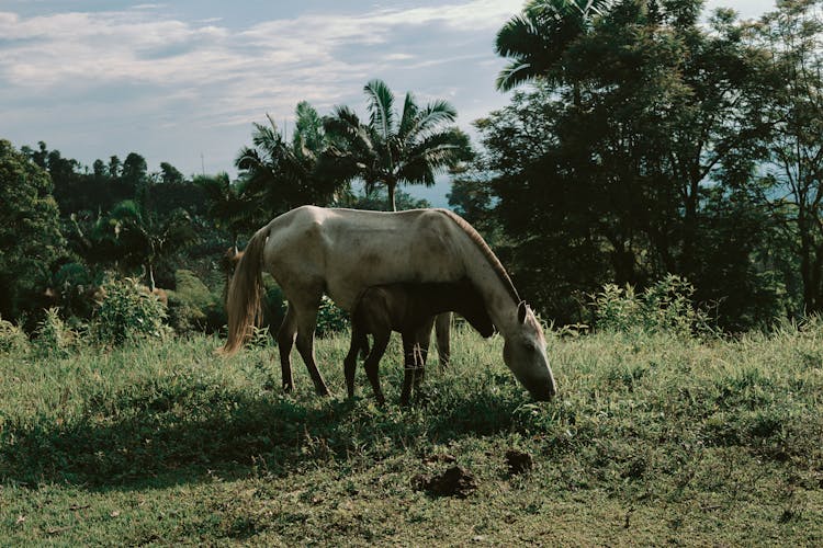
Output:
[[[601,331],[669,333],[686,339],[708,333],[709,317],[695,306],[694,295],[695,287],[674,274],[640,295],[629,285],[621,288],[606,284],[594,296],[595,327]]]

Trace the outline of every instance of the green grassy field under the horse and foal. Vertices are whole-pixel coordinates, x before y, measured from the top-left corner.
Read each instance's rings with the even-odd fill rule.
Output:
[[[396,341],[385,409],[362,370],[342,397],[345,336],[318,344],[328,399],[296,353],[284,395],[277,349],[218,345],[0,355],[0,544],[823,545],[820,324],[553,338],[549,403],[461,332],[407,410]],[[422,489],[454,466],[464,490]]]

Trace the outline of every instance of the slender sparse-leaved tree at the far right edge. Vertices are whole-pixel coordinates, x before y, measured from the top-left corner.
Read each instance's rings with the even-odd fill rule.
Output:
[[[803,306],[823,311],[823,2],[778,2],[757,38],[770,52],[779,82],[769,116],[765,178],[751,186],[771,212],[799,261]]]

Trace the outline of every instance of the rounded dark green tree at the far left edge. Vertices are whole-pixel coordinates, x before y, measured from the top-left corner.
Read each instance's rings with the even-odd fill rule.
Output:
[[[0,140],[0,316],[43,305],[50,266],[64,247],[48,173]]]

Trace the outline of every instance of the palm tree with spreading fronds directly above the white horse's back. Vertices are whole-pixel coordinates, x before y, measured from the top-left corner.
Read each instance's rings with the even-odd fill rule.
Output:
[[[469,137],[449,125],[458,113],[447,101],[421,109],[407,92],[398,113],[394,93],[382,80],[370,81],[363,91],[368,98],[367,124],[348,106],[336,107],[324,122],[328,140],[320,161],[324,176],[362,179],[367,193],[384,185],[388,206],[396,210],[399,183],[431,186],[439,171],[467,159]]]

